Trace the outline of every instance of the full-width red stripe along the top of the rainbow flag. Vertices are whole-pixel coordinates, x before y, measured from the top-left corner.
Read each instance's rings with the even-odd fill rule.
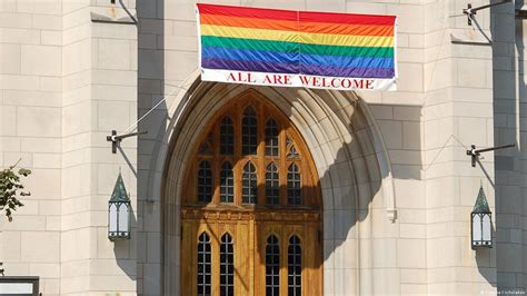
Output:
[[[257,18],[271,20],[330,22],[350,24],[394,26],[394,16],[369,16],[336,12],[292,11],[267,8],[248,8],[197,3],[200,13],[219,14],[226,17]]]

